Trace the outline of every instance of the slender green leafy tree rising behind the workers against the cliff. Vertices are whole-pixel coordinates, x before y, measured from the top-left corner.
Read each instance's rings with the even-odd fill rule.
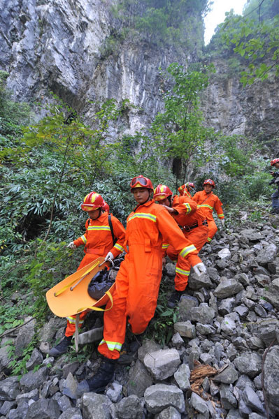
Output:
[[[185,69],[173,63],[167,71],[174,84],[164,94],[164,112],[152,124],[153,147],[162,161],[173,159],[179,163],[173,170],[177,187],[178,179],[183,183],[189,175],[189,163],[194,160],[196,166],[201,164],[206,138],[211,135],[203,125],[199,94],[207,87],[208,72],[213,68]]]

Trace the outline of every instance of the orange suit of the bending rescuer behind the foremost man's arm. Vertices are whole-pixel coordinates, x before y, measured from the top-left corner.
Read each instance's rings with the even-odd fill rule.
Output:
[[[178,214],[171,214],[179,226],[182,227],[183,234],[192,244],[196,247],[199,252],[206,243],[208,238],[208,227],[206,222],[206,215],[202,208],[198,208],[196,203],[187,196],[173,196],[173,210],[176,210]],[[163,245],[166,248],[166,254],[171,260],[178,258],[178,251],[171,245]],[[199,263],[199,256],[196,257],[196,263]],[[194,258],[194,256],[193,256]],[[194,263],[195,264],[195,263]],[[180,263],[176,265],[176,277],[174,279],[175,288],[177,291],[184,291],[188,277],[191,270],[191,264],[189,260],[180,260]]]

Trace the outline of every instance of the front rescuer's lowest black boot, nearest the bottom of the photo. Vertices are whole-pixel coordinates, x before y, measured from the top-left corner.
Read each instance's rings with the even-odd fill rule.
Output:
[[[77,397],[80,397],[85,392],[100,393],[105,390],[110,381],[113,380],[116,360],[105,358],[96,372],[96,374],[89,380],[80,381],[76,389]]]

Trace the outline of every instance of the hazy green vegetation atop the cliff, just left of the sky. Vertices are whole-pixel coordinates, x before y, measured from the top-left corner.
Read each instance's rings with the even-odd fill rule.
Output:
[[[121,36],[144,38],[157,45],[187,45],[201,50],[201,16],[208,11],[208,0],[121,0],[113,8],[120,22]],[[127,31],[127,28],[129,30]],[[201,36],[196,36],[199,33]]]

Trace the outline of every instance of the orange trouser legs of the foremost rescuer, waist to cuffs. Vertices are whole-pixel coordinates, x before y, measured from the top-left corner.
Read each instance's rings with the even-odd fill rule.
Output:
[[[155,313],[161,278],[162,249],[145,252],[143,245],[129,246],[115,280],[113,308],[103,316],[99,353],[106,358],[119,358],[127,319],[135,335],[145,331]]]

